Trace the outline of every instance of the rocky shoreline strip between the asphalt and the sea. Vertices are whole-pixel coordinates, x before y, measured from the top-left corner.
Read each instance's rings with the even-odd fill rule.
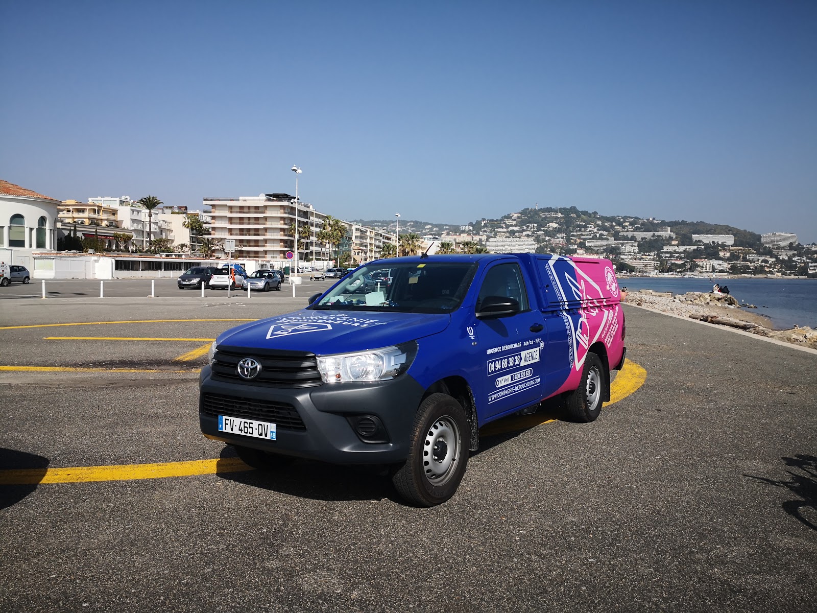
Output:
[[[817,330],[808,326],[775,330],[768,318],[743,311],[740,303],[728,294],[688,292],[673,296],[670,292],[642,289],[638,292],[627,292],[624,300],[636,307],[647,307],[664,313],[672,313],[672,315],[706,321],[710,324],[725,325],[759,336],[791,342],[800,347],[817,349]],[[746,305],[746,307],[753,308],[753,305]]]

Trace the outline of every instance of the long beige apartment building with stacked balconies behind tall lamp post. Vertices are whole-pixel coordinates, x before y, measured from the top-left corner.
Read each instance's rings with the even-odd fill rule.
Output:
[[[301,247],[301,261],[328,261],[334,256],[333,246],[319,242],[318,233],[328,213],[321,213],[310,203],[295,204],[295,197],[284,193],[239,196],[238,198],[205,198],[210,207],[212,236],[234,239],[236,253],[242,257],[264,260],[283,259],[294,251],[295,239],[291,228],[297,223],[299,234],[306,226],[306,239]],[[296,210],[297,209],[297,210]],[[358,262],[380,257],[384,242],[394,242],[395,235],[348,221],[346,239],[341,249],[350,249]]]

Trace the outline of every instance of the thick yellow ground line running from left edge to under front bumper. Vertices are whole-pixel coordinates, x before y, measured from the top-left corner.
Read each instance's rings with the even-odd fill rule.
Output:
[[[17,468],[0,471],[0,485],[130,481],[132,479],[190,477],[191,475],[212,475],[218,472],[249,470],[252,470],[252,468],[238,458],[155,464],[121,464],[119,466],[78,466],[75,468]]]

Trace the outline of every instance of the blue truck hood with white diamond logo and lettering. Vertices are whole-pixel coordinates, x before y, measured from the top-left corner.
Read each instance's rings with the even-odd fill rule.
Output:
[[[217,344],[232,347],[311,351],[318,356],[367,351],[442,332],[448,313],[310,311],[253,321],[226,330]]]

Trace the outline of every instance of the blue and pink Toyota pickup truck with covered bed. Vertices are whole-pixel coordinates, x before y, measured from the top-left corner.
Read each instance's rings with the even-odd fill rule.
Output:
[[[453,496],[486,423],[552,396],[575,421],[596,419],[624,361],[608,260],[391,258],[309,302],[213,342],[203,434],[255,468],[297,457],[389,466],[418,506]]]

